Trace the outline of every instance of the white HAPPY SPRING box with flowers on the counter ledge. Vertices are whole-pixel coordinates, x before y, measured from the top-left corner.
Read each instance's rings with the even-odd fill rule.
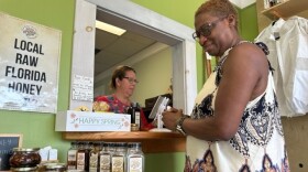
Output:
[[[113,112],[59,111],[56,131],[131,131],[131,116]]]

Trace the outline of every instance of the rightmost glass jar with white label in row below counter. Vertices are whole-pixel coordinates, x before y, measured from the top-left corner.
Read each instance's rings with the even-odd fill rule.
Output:
[[[128,172],[144,172],[144,153],[142,152],[141,142],[128,143],[127,162]]]

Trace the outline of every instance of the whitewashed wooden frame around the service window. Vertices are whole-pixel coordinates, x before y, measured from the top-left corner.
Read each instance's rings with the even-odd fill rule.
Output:
[[[95,21],[100,18],[172,47],[173,104],[185,114],[190,112],[197,95],[196,42],[191,37],[194,30],[128,0],[76,0],[72,79],[74,75],[94,77]],[[91,108],[91,103],[70,98],[69,109],[79,106]]]

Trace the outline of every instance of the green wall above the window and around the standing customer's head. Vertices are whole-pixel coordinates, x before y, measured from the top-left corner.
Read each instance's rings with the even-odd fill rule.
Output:
[[[205,2],[205,0],[131,0],[138,4],[141,4],[147,9],[151,9],[160,14],[170,18],[182,24],[185,24],[194,29],[194,17],[198,7]],[[240,19],[240,33],[244,40],[253,41],[258,34],[257,20],[256,20],[256,6],[255,3],[244,8],[238,9]],[[191,33],[193,34],[193,33]],[[202,49],[197,44],[196,47],[196,62],[197,62],[197,87],[198,90],[202,88],[206,80],[205,61],[202,57]],[[215,60],[212,61],[215,65]]]

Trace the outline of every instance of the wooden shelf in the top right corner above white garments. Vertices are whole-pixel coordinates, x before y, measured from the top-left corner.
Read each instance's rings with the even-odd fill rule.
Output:
[[[272,20],[276,20],[277,18],[287,19],[307,10],[307,7],[308,0],[288,0],[265,9],[262,13]]]

